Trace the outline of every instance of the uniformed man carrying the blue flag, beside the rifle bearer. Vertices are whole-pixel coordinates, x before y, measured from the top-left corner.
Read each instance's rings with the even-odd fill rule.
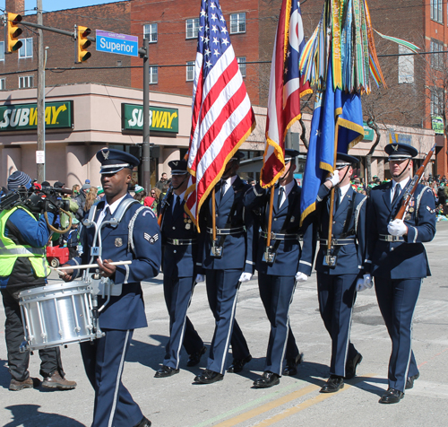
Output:
[[[344,387],[344,378],[356,375],[362,356],[350,341],[351,313],[356,299],[357,280],[366,257],[366,196],[350,185],[353,165],[358,159],[337,153],[332,177],[319,188],[316,199],[320,248],[315,261],[319,310],[332,338],[330,378],[321,393]],[[332,249],[327,253],[330,221],[330,190],[335,187]],[[363,282],[363,279],[361,279]]]

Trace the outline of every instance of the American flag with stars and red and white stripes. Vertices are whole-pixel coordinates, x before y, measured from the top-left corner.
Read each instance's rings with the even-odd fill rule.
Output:
[[[185,208],[197,225],[201,205],[255,127],[237,57],[218,0],[202,0]]]

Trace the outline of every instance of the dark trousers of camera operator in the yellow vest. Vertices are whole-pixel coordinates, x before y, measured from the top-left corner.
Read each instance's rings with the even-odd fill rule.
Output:
[[[2,297],[4,315],[6,317],[4,322],[4,337],[8,351],[9,372],[13,379],[24,381],[30,377],[30,372],[28,371],[30,352],[20,352],[20,346],[24,341],[24,331],[19,305],[19,292],[9,292],[7,289],[2,289]],[[56,370],[59,371],[61,377],[65,377],[59,347],[39,350],[39,357],[39,374],[42,377],[51,377]]]

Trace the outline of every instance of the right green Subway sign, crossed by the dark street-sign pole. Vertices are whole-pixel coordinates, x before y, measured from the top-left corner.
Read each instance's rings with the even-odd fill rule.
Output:
[[[143,130],[143,106],[121,104],[122,131]],[[150,106],[150,131],[179,133],[179,110]]]

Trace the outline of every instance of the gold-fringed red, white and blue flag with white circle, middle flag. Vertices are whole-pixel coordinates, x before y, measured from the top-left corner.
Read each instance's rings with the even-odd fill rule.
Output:
[[[280,178],[285,168],[286,133],[301,117],[300,97],[312,92],[298,71],[303,48],[304,30],[298,1],[283,0],[272,54],[262,187],[271,187]]]

